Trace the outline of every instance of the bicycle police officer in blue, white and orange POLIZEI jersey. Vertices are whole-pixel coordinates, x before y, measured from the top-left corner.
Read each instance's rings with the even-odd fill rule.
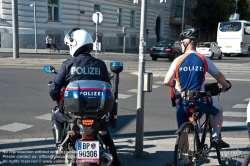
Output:
[[[177,57],[171,64],[164,84],[170,87],[175,87],[175,95],[181,96],[176,99],[176,118],[178,128],[188,121],[188,107],[184,106],[183,96],[198,93],[204,94],[205,74],[208,72],[221,85],[222,91],[229,88],[229,85],[224,75],[215,67],[213,62],[196,51],[196,40],[199,36],[199,29],[191,28],[184,30],[180,34],[181,47],[183,55]],[[212,106],[209,107],[204,97],[198,98],[198,106],[201,112],[212,114],[212,138],[211,146],[214,148],[226,148],[229,144],[224,142],[220,137],[220,130],[223,122],[222,107],[216,100],[212,100]]]

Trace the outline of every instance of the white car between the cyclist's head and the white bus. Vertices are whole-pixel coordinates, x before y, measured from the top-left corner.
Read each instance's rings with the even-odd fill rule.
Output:
[[[196,50],[210,59],[214,59],[215,57],[222,59],[220,47],[215,42],[200,42],[197,44]]]

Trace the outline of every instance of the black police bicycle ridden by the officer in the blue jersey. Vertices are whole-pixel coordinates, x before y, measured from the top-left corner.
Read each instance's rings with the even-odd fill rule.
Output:
[[[228,83],[230,84],[230,87],[227,90],[231,88],[231,83],[229,81]],[[211,87],[213,87],[212,90]],[[215,89],[216,91],[214,91]],[[221,93],[221,89],[219,88],[218,83],[206,84],[205,90],[206,94],[210,97],[210,99],[212,99],[211,98],[212,96],[216,96]],[[208,147],[208,145],[205,143],[207,129],[209,129],[210,138],[212,136],[212,127],[210,122],[212,115],[205,114],[202,112],[196,112],[195,111],[196,101],[186,102],[184,104],[186,104],[186,106],[189,107],[189,112],[192,114],[192,116],[189,117],[189,121],[183,123],[176,132],[177,139],[174,151],[174,165],[197,166],[200,157],[202,157],[203,159],[207,159],[208,154],[212,149],[211,146]],[[200,119],[204,114],[205,114],[205,121],[203,124],[201,124]],[[203,127],[203,133],[200,139],[199,130],[202,129],[202,127]],[[221,148],[215,148],[215,149],[217,153],[218,162],[219,164],[221,164],[221,155],[220,155]]]

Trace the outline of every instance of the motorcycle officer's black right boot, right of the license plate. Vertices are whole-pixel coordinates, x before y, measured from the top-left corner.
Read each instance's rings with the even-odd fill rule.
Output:
[[[100,135],[100,137],[102,141],[104,142],[104,144],[109,147],[110,154],[112,154],[113,156],[113,161],[112,161],[113,166],[121,166],[121,162],[117,155],[115,144],[112,138],[110,137],[109,132],[107,132],[107,134],[104,136]]]

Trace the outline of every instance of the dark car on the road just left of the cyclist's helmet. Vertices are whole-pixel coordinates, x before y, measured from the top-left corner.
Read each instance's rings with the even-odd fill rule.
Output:
[[[179,41],[163,40],[152,46],[149,54],[153,61],[156,61],[158,58],[168,58],[173,61],[182,54],[182,50]]]

